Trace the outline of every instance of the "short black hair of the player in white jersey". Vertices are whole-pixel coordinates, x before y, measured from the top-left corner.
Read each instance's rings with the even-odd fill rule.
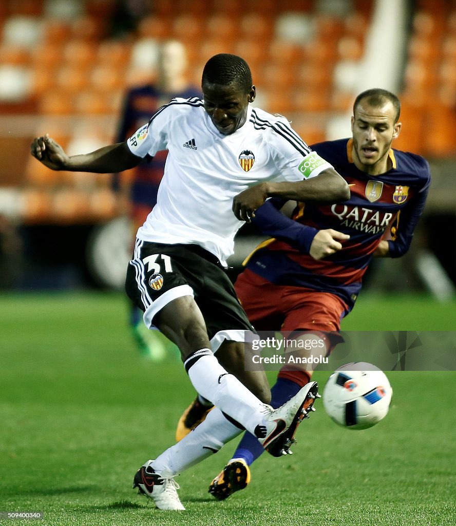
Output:
[[[252,74],[244,58],[229,53],[219,53],[209,58],[202,70],[201,84],[235,84],[244,93],[252,87]]]

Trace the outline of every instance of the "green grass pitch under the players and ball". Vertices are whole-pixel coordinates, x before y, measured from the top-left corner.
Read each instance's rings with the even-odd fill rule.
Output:
[[[366,295],[343,328],[454,330],[455,307]],[[388,373],[390,413],[365,431],[338,428],[318,401],[295,454],[264,454],[246,490],[225,502],[207,493],[232,442],[178,478],[187,511],[156,510],[133,475],[174,443],[194,391],[178,360],[139,355],[126,310],[117,294],[0,299],[0,511],[62,526],[455,523],[455,372]],[[321,387],[327,376],[315,374]]]

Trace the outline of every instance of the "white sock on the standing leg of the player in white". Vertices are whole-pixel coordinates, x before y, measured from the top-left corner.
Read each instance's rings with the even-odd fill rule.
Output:
[[[217,453],[237,437],[241,429],[229,422],[216,407],[209,411],[206,420],[190,431],[180,442],[161,453],[151,466],[161,477],[174,477],[201,460]]]

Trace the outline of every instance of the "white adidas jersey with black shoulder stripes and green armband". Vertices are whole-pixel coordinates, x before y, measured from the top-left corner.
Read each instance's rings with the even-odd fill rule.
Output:
[[[197,244],[225,261],[244,224],[233,198],[261,181],[299,181],[331,165],[282,116],[248,108],[246,123],[222,135],[199,98],[171,100],[128,139],[132,153],[168,150],[157,204],[137,237],[165,244]]]

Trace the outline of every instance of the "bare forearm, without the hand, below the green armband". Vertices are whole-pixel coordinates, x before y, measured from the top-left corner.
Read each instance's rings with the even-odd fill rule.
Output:
[[[267,197],[281,197],[306,203],[340,203],[350,198],[350,188],[336,170],[327,169],[317,177],[296,183],[264,183]]]

